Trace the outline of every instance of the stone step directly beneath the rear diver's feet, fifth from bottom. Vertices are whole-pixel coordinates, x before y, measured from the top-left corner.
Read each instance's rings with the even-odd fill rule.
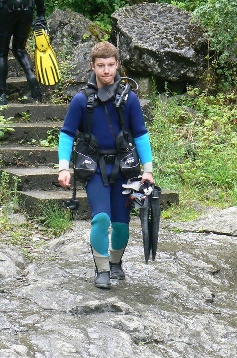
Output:
[[[63,104],[22,104],[9,103],[8,108],[1,111],[6,118],[13,117],[16,122],[44,122],[64,120],[68,105]]]

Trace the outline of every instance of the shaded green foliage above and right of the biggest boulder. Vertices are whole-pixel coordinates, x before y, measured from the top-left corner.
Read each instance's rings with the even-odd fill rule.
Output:
[[[144,0],[48,0],[45,1],[47,15],[58,8],[82,13],[99,21],[108,30],[110,15],[120,7],[139,4]],[[212,56],[207,59],[219,78],[218,90],[237,86],[237,6],[236,0],[147,0],[168,3],[193,12],[205,27]],[[105,27],[106,26],[106,27]]]

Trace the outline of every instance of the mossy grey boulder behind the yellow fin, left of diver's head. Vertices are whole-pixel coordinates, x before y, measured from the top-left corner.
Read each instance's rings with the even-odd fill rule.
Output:
[[[87,83],[91,71],[91,48],[104,34],[92,21],[69,9],[56,9],[48,20],[48,26],[51,44],[58,53],[59,62],[61,52],[71,57],[67,73],[74,81],[72,85],[66,86],[64,93],[74,96]]]

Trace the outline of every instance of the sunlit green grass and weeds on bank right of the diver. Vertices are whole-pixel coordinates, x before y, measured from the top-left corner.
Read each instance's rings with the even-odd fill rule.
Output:
[[[149,125],[154,178],[163,188],[187,195],[224,192],[231,204],[237,192],[237,107],[235,93],[216,97],[190,90],[181,102],[156,101]],[[187,108],[188,107],[188,108]],[[191,108],[191,110],[190,110]]]

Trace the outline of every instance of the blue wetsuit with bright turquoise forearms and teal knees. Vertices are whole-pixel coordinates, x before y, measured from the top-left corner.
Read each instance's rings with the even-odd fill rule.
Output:
[[[87,130],[86,104],[87,98],[81,92],[70,103],[64,125],[60,132],[59,170],[69,168],[73,139],[78,128],[80,132]],[[100,149],[116,148],[115,138],[108,122],[108,115],[116,136],[121,130],[119,113],[113,105],[113,101],[100,102],[99,106],[93,110],[91,130],[92,134],[98,139]],[[132,91],[125,105],[124,117],[126,127],[131,130],[133,135],[142,164],[152,162],[151,147],[142,110],[137,96]],[[108,179],[110,179],[113,164],[107,164],[106,170]],[[115,254],[116,256],[118,254],[118,260],[115,258],[114,261],[119,261],[119,255],[124,251],[123,249],[129,237],[128,223],[130,221],[129,195],[122,194],[122,184],[126,182],[127,179],[119,170],[116,182],[109,184],[108,187],[104,187],[98,165],[96,173],[86,185],[86,193],[92,212],[90,241],[94,256],[96,252],[101,257],[109,257],[108,228],[110,222],[112,222],[112,251],[114,250],[114,253],[111,252],[111,255]],[[96,265],[98,266],[97,263]],[[106,270],[103,265],[101,270]]]

